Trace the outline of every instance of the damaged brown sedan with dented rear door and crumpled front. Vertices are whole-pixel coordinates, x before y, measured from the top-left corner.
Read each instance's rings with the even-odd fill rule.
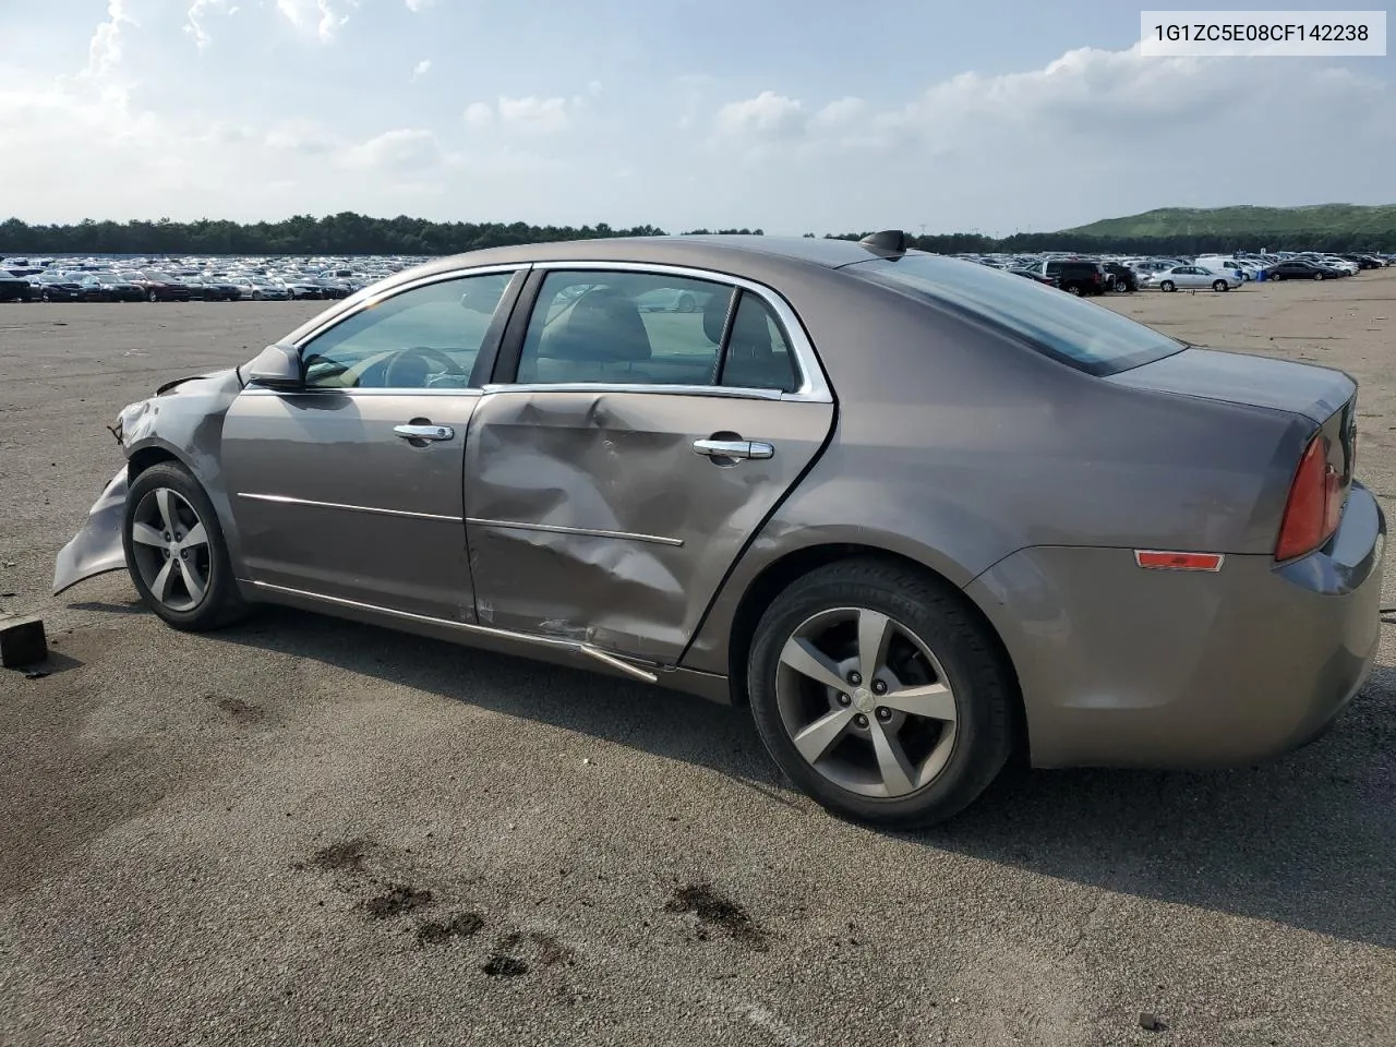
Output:
[[[181,630],[278,603],[730,702],[825,807],[928,824],[1015,750],[1318,737],[1378,644],[1356,398],[896,232],[491,248],[126,408],[54,589],[126,570]]]

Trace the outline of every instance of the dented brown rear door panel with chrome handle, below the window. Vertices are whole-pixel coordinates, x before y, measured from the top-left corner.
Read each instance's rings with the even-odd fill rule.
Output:
[[[479,621],[677,660],[832,417],[779,398],[487,392],[466,440]]]

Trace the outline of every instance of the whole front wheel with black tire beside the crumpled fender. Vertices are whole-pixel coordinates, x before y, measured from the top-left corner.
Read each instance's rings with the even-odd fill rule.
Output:
[[[135,477],[121,546],[141,600],[168,625],[202,632],[246,614],[218,514],[183,465],[161,462]]]

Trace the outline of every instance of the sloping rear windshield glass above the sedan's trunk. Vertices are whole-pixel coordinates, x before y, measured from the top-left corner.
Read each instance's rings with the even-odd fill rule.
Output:
[[[1187,348],[1104,306],[955,258],[907,254],[843,271],[986,320],[1087,374],[1118,374]]]

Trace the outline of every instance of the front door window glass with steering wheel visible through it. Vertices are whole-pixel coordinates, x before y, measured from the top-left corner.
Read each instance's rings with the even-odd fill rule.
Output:
[[[360,310],[302,349],[311,388],[461,388],[512,274],[429,283]]]

